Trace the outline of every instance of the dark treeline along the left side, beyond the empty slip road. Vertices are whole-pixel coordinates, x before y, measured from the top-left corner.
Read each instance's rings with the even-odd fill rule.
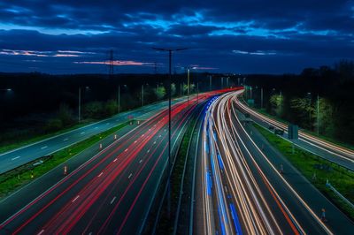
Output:
[[[191,72],[190,92],[195,93],[196,87],[200,92],[209,90],[209,75]],[[214,75],[212,89],[221,88],[220,76]],[[166,74],[0,73],[0,142],[77,124],[79,97],[81,122],[166,99],[167,78]],[[187,94],[187,74],[174,74],[172,82],[173,96]],[[230,80],[229,85],[235,83]]]

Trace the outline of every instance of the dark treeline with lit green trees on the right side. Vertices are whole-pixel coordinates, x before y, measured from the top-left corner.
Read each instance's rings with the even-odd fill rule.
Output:
[[[304,129],[354,144],[354,62],[307,68],[299,75],[250,75],[247,99]],[[252,89],[252,91],[250,91]],[[263,105],[261,103],[263,90]]]

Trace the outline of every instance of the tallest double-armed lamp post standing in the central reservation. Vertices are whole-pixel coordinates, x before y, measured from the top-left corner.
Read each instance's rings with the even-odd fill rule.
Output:
[[[168,52],[168,64],[169,64],[169,72],[168,72],[168,168],[167,168],[167,188],[168,188],[168,216],[171,216],[171,80],[172,80],[172,52],[185,50],[187,48],[179,48],[179,49],[165,49],[165,48],[152,48],[161,51]]]

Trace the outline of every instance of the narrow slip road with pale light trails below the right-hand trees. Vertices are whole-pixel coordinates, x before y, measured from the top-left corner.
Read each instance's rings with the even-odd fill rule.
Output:
[[[285,125],[273,118],[266,117],[263,114],[258,113],[255,110],[250,109],[247,105],[242,102],[242,93],[235,97],[235,104],[239,110],[243,113],[249,113],[253,121],[262,125],[266,128],[272,125],[278,129],[285,132],[284,139],[288,140],[288,125]],[[354,171],[354,151],[348,148],[343,148],[334,143],[328,142],[327,140],[319,139],[309,133],[304,133],[299,130],[298,140],[293,140],[294,144],[300,148],[304,148],[307,151],[312,152],[315,155],[319,155],[329,161],[342,165]]]

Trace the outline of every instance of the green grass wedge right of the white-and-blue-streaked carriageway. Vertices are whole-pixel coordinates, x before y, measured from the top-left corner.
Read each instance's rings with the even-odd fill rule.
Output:
[[[340,165],[331,163],[326,159],[313,155],[301,148],[295,148],[292,153],[292,144],[281,139],[281,137],[269,132],[260,125],[254,124],[269,143],[277,148],[282,155],[285,155],[290,163],[292,163],[312,185],[319,189],[330,201],[340,208],[347,216],[354,220],[354,208],[342,201],[331,189],[326,186],[327,179],[335,189],[341,193],[346,199],[354,202],[354,172],[342,168]],[[314,177],[315,174],[315,177]]]

